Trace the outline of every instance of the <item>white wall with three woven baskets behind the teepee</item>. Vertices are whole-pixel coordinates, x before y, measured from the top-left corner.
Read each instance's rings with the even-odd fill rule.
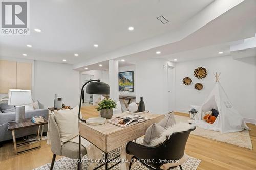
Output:
[[[194,70],[197,67],[207,69],[205,79],[197,79]],[[229,100],[244,118],[256,119],[256,57],[233,59],[231,56],[208,58],[176,64],[176,108],[188,111],[190,104],[201,105],[214,87],[213,72],[221,72],[220,82]],[[185,86],[184,77],[190,77],[193,83]],[[202,83],[203,89],[194,88]]]

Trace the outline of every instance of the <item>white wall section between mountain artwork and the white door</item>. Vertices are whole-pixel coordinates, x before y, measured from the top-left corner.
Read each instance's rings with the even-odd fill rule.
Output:
[[[169,112],[167,65],[174,66],[163,59],[147,59],[136,63],[136,100],[139,102],[143,96],[145,109],[152,113]]]

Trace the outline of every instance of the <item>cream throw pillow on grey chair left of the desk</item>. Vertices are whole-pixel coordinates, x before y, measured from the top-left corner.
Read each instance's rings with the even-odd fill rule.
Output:
[[[78,106],[72,110],[54,110],[54,116],[59,127],[60,140],[62,144],[79,134]]]

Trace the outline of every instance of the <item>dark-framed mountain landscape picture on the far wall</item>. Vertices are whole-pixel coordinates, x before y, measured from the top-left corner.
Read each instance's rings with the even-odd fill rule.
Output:
[[[125,71],[118,73],[119,91],[134,91],[134,73],[133,71]]]

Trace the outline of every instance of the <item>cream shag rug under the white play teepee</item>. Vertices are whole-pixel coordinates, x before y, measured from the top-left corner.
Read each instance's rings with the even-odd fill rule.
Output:
[[[188,122],[188,120],[191,120],[189,117],[185,116],[174,116],[176,122]],[[221,133],[212,130],[205,130],[197,126],[196,130],[192,131],[191,134],[252,150],[252,143],[248,130],[243,130],[241,132]]]

